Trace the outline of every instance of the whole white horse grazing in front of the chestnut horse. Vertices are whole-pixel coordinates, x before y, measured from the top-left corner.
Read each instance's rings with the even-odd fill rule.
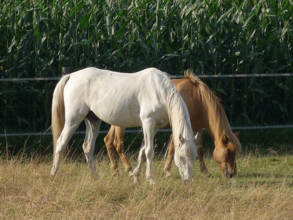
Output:
[[[52,101],[52,176],[56,175],[61,155],[82,120],[86,123],[83,149],[92,174],[96,174],[93,156],[95,141],[101,121],[105,121],[120,127],[143,127],[144,141],[133,177],[134,182],[139,182],[142,159],[146,156],[146,179],[153,182],[154,135],[170,121],[175,163],[182,182],[191,179],[197,156],[197,136],[193,137],[183,99],[165,73],[155,68],[128,74],[90,67],[62,77]]]

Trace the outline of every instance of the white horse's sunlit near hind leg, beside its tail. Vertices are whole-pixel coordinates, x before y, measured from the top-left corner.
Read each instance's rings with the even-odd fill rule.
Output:
[[[61,156],[64,153],[64,150],[65,150],[70,138],[72,137],[74,131],[79,126],[79,124],[80,124],[80,122],[79,123],[67,123],[65,121],[63,131],[57,140],[51,176],[56,175],[59,164],[60,164]]]

